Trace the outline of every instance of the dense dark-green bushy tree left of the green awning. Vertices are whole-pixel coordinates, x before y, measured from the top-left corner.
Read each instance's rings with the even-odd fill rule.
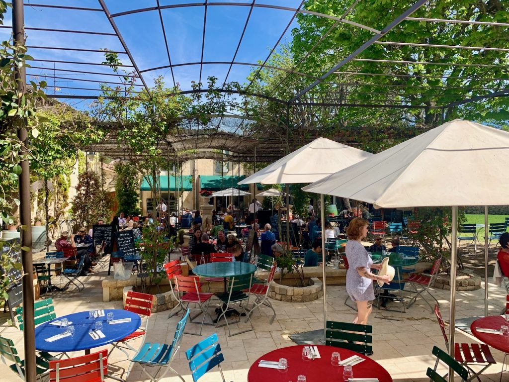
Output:
[[[139,210],[139,179],[138,172],[129,163],[115,165],[115,195],[119,204],[118,210],[126,215],[137,216]]]

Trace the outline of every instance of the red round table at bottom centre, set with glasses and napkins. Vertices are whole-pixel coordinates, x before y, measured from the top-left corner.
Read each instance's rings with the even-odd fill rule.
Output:
[[[334,346],[316,345],[320,358],[315,360],[302,360],[302,348],[304,345],[282,347],[264,354],[249,368],[247,382],[288,382],[296,381],[299,374],[305,375],[307,382],[337,382],[343,380],[343,366],[332,366],[330,356],[334,351],[341,354],[341,359],[346,360],[352,356],[360,356],[365,361],[353,366],[354,378],[378,378],[380,382],[392,382],[390,374],[377,362],[364,354],[352,350],[342,349]],[[259,367],[258,363],[264,361],[279,361],[286,358],[288,371],[281,373],[277,369]]]

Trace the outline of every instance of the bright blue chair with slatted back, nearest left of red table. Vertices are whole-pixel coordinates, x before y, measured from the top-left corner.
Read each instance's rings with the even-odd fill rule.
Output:
[[[217,366],[221,373],[222,382],[225,382],[224,374],[221,369],[221,362],[224,361],[224,357],[221,353],[221,346],[218,341],[217,334],[214,333],[212,336],[190,347],[186,351],[189,369],[191,370],[192,380],[194,382],[215,366]]]

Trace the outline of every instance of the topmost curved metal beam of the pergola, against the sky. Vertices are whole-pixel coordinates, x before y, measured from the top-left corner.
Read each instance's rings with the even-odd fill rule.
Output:
[[[212,7],[212,6],[251,7],[251,3],[220,3],[220,2],[217,2],[217,3],[206,3],[206,2],[202,2],[202,3],[188,3],[188,4],[172,4],[172,5],[163,5],[163,6],[159,6],[159,7],[149,7],[149,8],[133,9],[133,10],[130,10],[130,11],[114,13],[114,14],[111,14],[111,17],[125,16],[125,15],[130,15],[130,14],[133,14],[133,13],[140,13],[140,12],[156,11],[158,9],[204,7],[205,5],[207,5],[209,7]],[[359,24],[359,23],[354,22],[354,21],[345,20],[345,19],[342,19],[341,17],[327,15],[325,13],[312,12],[312,11],[307,11],[305,9],[298,9],[298,8],[292,8],[292,7],[280,7],[280,6],[271,5],[271,4],[254,4],[254,7],[256,7],[256,8],[278,9],[278,10],[282,10],[282,11],[290,11],[290,12],[297,12],[297,13],[302,13],[302,14],[314,15],[314,16],[328,18],[328,19],[335,20],[335,21],[344,22],[346,24],[350,24],[350,25],[353,25],[353,26],[357,26],[358,28],[365,29],[366,31],[370,31],[372,33],[377,33],[377,34],[380,33],[380,31],[378,31],[378,30],[376,30],[374,28],[370,28],[369,26],[362,25],[362,24]]]

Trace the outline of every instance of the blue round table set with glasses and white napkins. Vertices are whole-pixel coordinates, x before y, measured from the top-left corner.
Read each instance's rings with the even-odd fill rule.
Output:
[[[113,319],[131,318],[130,322],[117,324],[108,324],[106,317],[109,312],[113,312]],[[74,325],[74,335],[64,337],[53,342],[45,341],[46,338],[62,333],[60,326],[52,325],[50,322],[67,318]],[[96,321],[102,321],[102,332],[106,337],[93,340],[89,335],[90,329],[95,329]],[[121,340],[129,334],[136,331],[142,324],[142,319],[135,313],[128,310],[120,309],[104,309],[104,316],[95,320],[89,319],[89,312],[72,313],[66,316],[55,318],[54,320],[45,322],[35,328],[35,348],[37,350],[49,352],[67,352],[78,350],[90,350],[94,347],[104,346],[111,342]]]

